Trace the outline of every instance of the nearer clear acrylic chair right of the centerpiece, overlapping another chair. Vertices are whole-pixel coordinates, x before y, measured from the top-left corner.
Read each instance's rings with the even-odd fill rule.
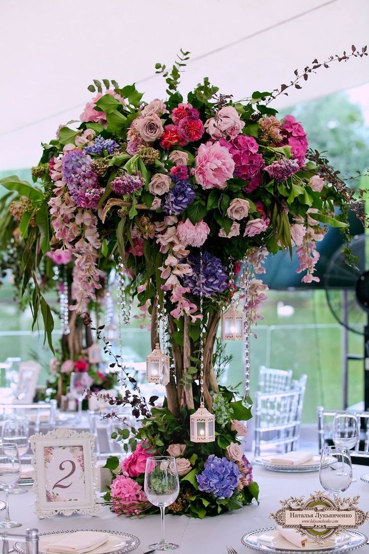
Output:
[[[254,455],[262,447],[275,452],[297,450],[304,404],[306,375],[292,381],[286,392],[257,392],[254,401]]]

